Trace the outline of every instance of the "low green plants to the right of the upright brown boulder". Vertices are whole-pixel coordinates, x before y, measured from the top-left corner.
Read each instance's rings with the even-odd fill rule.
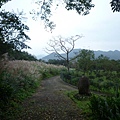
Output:
[[[110,94],[120,93],[120,79],[115,72],[99,71],[96,76],[90,79],[91,90],[107,92]]]

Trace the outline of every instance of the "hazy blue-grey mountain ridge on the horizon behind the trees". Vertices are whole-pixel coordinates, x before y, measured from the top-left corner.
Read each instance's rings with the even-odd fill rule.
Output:
[[[73,58],[76,55],[78,55],[80,50],[81,49],[74,49],[69,54],[69,58]],[[98,50],[98,51],[94,51],[94,54],[95,54],[95,58],[97,58],[98,56],[100,56],[101,54],[103,54],[104,56],[107,56],[110,59],[114,59],[114,60],[120,59],[120,51],[118,51],[118,50],[115,50],[115,51],[100,51],[100,50]],[[66,54],[61,54],[61,55],[64,56],[64,57],[66,57]],[[49,59],[55,59],[55,60],[57,60],[59,58],[55,56],[54,52],[42,58],[42,60],[44,60],[44,61],[48,61]]]

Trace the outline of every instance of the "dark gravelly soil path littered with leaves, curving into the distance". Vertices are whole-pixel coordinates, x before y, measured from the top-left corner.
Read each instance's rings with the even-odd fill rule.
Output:
[[[63,94],[69,90],[76,89],[59,76],[43,80],[37,92],[24,101],[18,120],[84,120],[80,108]]]

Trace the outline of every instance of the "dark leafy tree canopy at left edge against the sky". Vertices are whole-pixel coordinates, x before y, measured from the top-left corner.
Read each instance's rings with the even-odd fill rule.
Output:
[[[0,5],[8,0],[2,0]],[[1,7],[1,6],[0,6]],[[0,10],[0,55],[12,50],[22,50],[30,48],[25,44],[30,40],[25,33],[29,27],[22,23],[22,12],[18,15],[9,11]]]

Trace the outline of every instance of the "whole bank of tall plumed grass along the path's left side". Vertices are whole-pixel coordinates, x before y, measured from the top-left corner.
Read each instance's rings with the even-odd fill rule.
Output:
[[[0,119],[13,120],[18,106],[40,85],[42,79],[58,75],[63,66],[38,61],[0,62]]]

